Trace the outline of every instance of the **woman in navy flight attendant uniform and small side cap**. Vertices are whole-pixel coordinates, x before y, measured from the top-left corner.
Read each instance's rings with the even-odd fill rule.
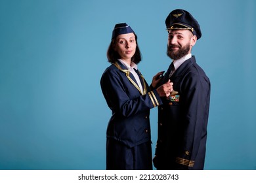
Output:
[[[137,69],[141,60],[137,35],[125,23],[115,25],[107,57],[112,65],[100,80],[112,110],[106,134],[106,169],[152,169],[150,108],[162,104],[160,97],[169,96],[172,83],[150,90]],[[154,76],[153,88],[161,74]]]

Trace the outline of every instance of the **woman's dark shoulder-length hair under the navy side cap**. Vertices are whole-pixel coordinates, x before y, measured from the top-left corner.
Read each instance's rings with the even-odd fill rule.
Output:
[[[136,51],[134,56],[131,58],[131,61],[138,64],[141,61],[140,48],[137,42],[137,35],[135,34],[135,41],[137,43]],[[114,50],[114,44],[116,42],[116,37],[112,39],[110,42],[110,46],[108,46],[107,58],[110,63],[116,63],[117,59],[121,58],[119,54]]]

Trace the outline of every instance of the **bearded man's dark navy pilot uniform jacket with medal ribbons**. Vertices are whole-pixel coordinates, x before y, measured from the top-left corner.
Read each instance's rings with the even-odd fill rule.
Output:
[[[163,82],[169,78],[169,67]],[[171,76],[175,94],[158,107],[157,169],[203,169],[211,84],[194,56]]]

